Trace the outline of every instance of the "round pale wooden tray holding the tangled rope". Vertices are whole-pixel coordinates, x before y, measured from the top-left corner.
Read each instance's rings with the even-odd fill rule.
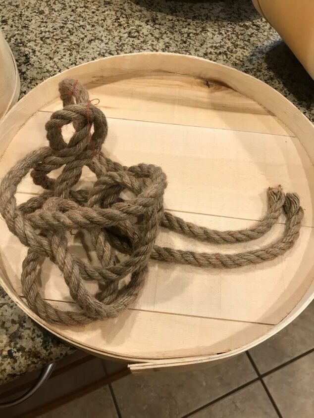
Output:
[[[177,54],[113,56],[46,80],[10,110],[0,125],[1,177],[26,152],[46,144],[44,125],[61,107],[57,86],[65,77],[79,79],[100,100],[110,158],[162,167],[168,210],[210,228],[242,229],[265,213],[267,187],[281,184],[299,193],[305,218],[293,249],[258,266],[203,270],[151,261],[140,297],[124,313],[75,327],[47,324],[29,310],[20,285],[26,248],[0,220],[0,283],[17,305],[70,344],[137,363],[133,372],[217,361],[296,318],[314,293],[311,122],[281,94],[232,68]],[[79,186],[93,181],[86,171]],[[39,192],[30,177],[18,190],[20,202]],[[283,222],[251,243],[217,247],[165,231],[158,242],[239,252],[279,236]],[[75,235],[71,250],[87,256]],[[74,309],[57,268],[45,261],[42,270],[44,297]]]

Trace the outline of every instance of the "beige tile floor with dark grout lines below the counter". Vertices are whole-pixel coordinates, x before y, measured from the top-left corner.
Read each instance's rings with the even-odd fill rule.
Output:
[[[314,303],[249,353],[207,370],[128,375],[40,417],[312,418],[313,366]]]

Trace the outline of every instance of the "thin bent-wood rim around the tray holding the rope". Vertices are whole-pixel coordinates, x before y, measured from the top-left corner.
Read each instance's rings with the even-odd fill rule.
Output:
[[[177,68],[180,68],[180,72],[173,70],[173,63],[169,63],[169,61],[171,61],[171,59],[169,58],[172,58],[176,62]],[[119,64],[119,60],[121,59],[131,60],[131,66],[134,65],[134,63],[136,63],[137,68],[139,63],[141,63],[141,69],[143,68],[144,64],[144,67],[146,68],[143,68],[143,71],[148,69],[150,69],[151,71],[166,71],[176,74],[205,78],[218,83],[220,82],[238,91],[239,93],[242,93],[256,100],[264,107],[266,107],[268,110],[270,110],[274,115],[276,115],[296,135],[296,137],[300,140],[301,144],[304,146],[307,153],[309,154],[311,161],[314,161],[314,146],[312,145],[310,139],[311,134],[313,135],[314,132],[314,126],[311,123],[311,121],[308,120],[305,117],[305,115],[303,115],[303,113],[299,111],[297,107],[294,106],[281,93],[275,91],[272,87],[256,79],[255,77],[252,77],[248,74],[245,74],[234,68],[225,66],[223,64],[219,64],[213,61],[209,61],[205,58],[195,57],[191,55],[182,55],[165,52],[138,52],[132,54],[122,54],[100,58],[98,60],[90,61],[78,65],[76,67],[70,68],[45,80],[37,87],[35,87],[33,90],[31,90],[29,93],[27,93],[20,101],[18,101],[0,121],[0,128],[2,128],[3,130],[3,134],[0,135],[0,156],[5,151],[6,147],[10,143],[10,140],[14,138],[20,127],[27,121],[27,119],[31,117],[35,113],[35,111],[37,111],[42,106],[49,103],[55,98],[56,87],[61,79],[65,77],[77,78],[79,73],[80,81],[83,84],[91,82],[92,80],[89,78],[89,75],[93,74],[93,71],[88,71],[89,68],[100,67],[99,69],[101,70],[103,64],[104,67],[106,67],[106,64],[110,65],[110,61],[113,65],[115,63],[114,61],[116,61],[116,63]],[[179,63],[182,62],[184,62],[184,64],[188,68],[188,71],[182,71],[183,67],[182,65],[179,65]],[[213,77],[205,76],[205,74],[209,71],[213,74]],[[132,69],[122,71],[121,75],[130,72],[132,72]],[[98,76],[98,78],[100,78],[100,76]],[[37,101],[34,100],[35,98]],[[18,123],[15,119],[12,125],[11,120],[14,119],[15,114],[21,115],[19,119],[21,123]],[[299,303],[282,321],[280,321],[280,323],[274,325],[271,328],[271,330],[262,335],[262,337],[240,348],[230,350],[229,352],[223,354],[191,357],[185,356],[177,357],[175,359],[149,361],[149,359],[145,358],[140,359],[134,357],[122,357],[120,355],[116,356],[114,355],[114,353],[109,353],[108,351],[103,352],[91,348],[87,349],[84,345],[64,337],[62,333],[55,331],[50,324],[46,323],[45,321],[40,319],[36,314],[34,314],[23,302],[23,300],[15,294],[14,289],[12,289],[11,286],[6,282],[5,274],[1,271],[1,269],[0,284],[4,288],[6,293],[10,296],[10,298],[18,305],[19,308],[21,308],[35,322],[48,329],[57,337],[70,343],[71,345],[77,346],[94,355],[109,358],[117,358],[120,360],[131,362],[143,362],[143,364],[134,364],[130,366],[130,370],[136,373],[149,370],[154,371],[156,368],[159,370],[160,368],[168,368],[178,365],[189,366],[193,364],[203,364],[216,360],[223,360],[225,358],[239,354],[243,351],[246,351],[254,347],[262,341],[265,341],[267,338],[271,337],[272,335],[283,329],[286,325],[290,324],[314,299],[314,283],[312,282],[310,288],[304,294]]]

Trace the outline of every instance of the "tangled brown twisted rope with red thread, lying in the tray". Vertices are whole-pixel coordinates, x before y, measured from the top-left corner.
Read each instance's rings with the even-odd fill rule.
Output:
[[[59,85],[63,109],[46,124],[49,145],[28,154],[3,178],[0,212],[9,230],[28,247],[22,266],[22,288],[30,308],[48,322],[87,324],[94,319],[115,317],[138,295],[150,258],[198,267],[235,268],[272,260],[291,248],[299,236],[303,210],[299,197],[281,187],[268,190],[266,215],[251,229],[214,231],[185,222],[163,209],[166,176],[160,167],[139,164],[123,167],[101,151],[107,135],[104,113],[89,100],[80,83],[63,80]],[[61,128],[73,124],[75,133],[66,143]],[[91,134],[91,127],[94,133]],[[73,186],[87,166],[97,177],[91,190]],[[63,167],[54,180],[48,177]],[[36,185],[45,191],[17,206],[15,193],[31,171]],[[135,197],[123,200],[123,190]],[[283,235],[270,245],[238,254],[197,253],[156,245],[159,226],[213,243],[250,241],[261,237],[283,212]],[[91,234],[100,266],[92,266],[71,254],[67,234],[71,230]],[[117,254],[123,253],[123,261]],[[61,311],[43,300],[38,288],[42,259],[49,257],[63,273],[80,312]],[[121,258],[121,255],[120,255]],[[120,280],[131,275],[119,286]],[[91,294],[85,280],[97,280],[100,291]]]

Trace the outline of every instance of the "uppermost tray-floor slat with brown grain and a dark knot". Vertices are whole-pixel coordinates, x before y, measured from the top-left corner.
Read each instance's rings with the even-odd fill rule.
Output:
[[[256,101],[196,77],[144,72],[103,78],[87,88],[109,118],[292,135]],[[61,107],[55,99],[42,110]]]

